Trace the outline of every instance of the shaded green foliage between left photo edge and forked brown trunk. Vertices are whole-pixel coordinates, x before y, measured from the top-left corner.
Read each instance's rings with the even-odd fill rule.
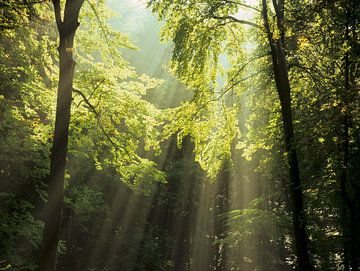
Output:
[[[46,10],[46,8],[45,8]],[[47,22],[43,9],[34,7]],[[43,224],[36,214],[46,196],[53,90],[54,42],[34,21],[3,30],[0,49],[0,259],[11,270],[35,270]]]

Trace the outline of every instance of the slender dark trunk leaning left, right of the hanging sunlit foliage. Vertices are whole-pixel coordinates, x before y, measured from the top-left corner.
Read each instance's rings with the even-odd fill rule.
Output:
[[[294,230],[295,253],[297,265],[300,271],[311,271],[314,267],[311,264],[308,252],[308,236],[306,233],[306,219],[304,214],[303,193],[300,182],[299,163],[294,145],[294,126],[291,107],[291,88],[288,76],[288,67],[284,48],[284,2],[273,1],[276,12],[277,27],[280,37],[275,39],[270,29],[268,19],[267,0],[262,0],[263,20],[271,49],[272,64],[275,76],[275,83],[281,103],[281,115],[284,129],[285,151],[289,168],[289,184],[291,191],[292,222]]]

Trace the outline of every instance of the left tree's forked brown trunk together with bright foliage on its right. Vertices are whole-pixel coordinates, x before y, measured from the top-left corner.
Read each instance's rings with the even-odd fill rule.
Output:
[[[159,148],[154,142],[159,112],[143,96],[160,81],[137,75],[121,57],[119,48],[134,49],[134,46],[107,25],[109,12],[106,8],[95,6],[91,1],[87,1],[84,8],[83,3],[66,1],[62,18],[60,1],[53,2],[60,36],[60,74],[40,259],[41,268],[46,270],[56,264],[69,146],[88,155],[97,170],[116,172],[116,179],[137,192],[149,193],[154,181],[164,181],[164,174],[156,168],[156,163],[139,155],[150,150],[157,152]],[[80,10],[86,24],[83,30],[77,31]],[[74,74],[73,58],[75,33],[81,36],[77,42],[83,44],[78,50],[77,74]],[[99,39],[103,43],[97,44]],[[77,96],[73,97],[72,93]],[[72,101],[76,101],[73,113],[76,118],[70,125]]]

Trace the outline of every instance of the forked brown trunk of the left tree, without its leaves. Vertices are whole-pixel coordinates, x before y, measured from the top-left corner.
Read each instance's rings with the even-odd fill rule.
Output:
[[[59,243],[64,176],[68,146],[70,108],[75,62],[73,45],[78,17],[84,0],[66,1],[64,20],[61,19],[60,0],[53,0],[55,18],[60,35],[60,74],[57,93],[54,141],[51,149],[50,175],[48,179],[48,202],[45,209],[45,227],[40,251],[40,271],[56,268],[56,252]]]

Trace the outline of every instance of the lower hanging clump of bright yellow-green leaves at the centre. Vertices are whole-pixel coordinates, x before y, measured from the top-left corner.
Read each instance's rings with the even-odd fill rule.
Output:
[[[165,119],[163,138],[176,134],[178,147],[190,136],[195,146],[195,159],[214,179],[225,160],[231,159],[231,144],[237,136],[237,110],[217,104],[199,106],[185,102],[179,108],[169,109]]]

